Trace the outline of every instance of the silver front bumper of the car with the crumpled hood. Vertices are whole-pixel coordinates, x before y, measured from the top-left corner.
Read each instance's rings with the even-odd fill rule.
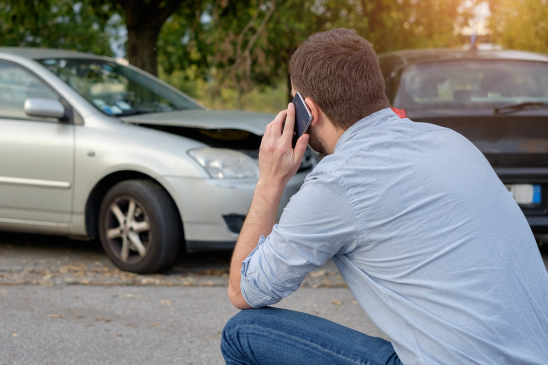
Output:
[[[302,185],[310,170],[293,176],[283,192],[277,217]],[[182,219],[186,250],[230,250],[246,217],[255,191],[255,179],[164,178]]]

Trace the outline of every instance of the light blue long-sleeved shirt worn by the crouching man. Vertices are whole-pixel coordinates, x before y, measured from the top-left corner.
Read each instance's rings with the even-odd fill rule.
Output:
[[[242,263],[254,307],[333,259],[413,364],[548,364],[548,274],[520,208],[453,130],[390,109],[358,121]]]

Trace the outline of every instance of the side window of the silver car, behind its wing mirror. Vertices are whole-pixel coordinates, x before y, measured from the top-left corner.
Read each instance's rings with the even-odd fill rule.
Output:
[[[59,100],[43,81],[11,62],[0,61],[0,118],[37,119],[25,113],[25,100],[44,98]],[[55,121],[50,118],[38,118]]]

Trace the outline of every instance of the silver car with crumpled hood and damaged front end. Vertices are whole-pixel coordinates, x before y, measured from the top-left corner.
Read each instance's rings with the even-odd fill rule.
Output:
[[[206,110],[111,58],[0,48],[0,230],[98,237],[138,273],[231,249],[272,119]],[[307,150],[278,216],[315,163]]]

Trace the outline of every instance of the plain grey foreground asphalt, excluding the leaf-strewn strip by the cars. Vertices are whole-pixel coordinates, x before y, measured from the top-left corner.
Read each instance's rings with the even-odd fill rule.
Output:
[[[1,364],[221,364],[237,310],[224,287],[5,286]],[[381,332],[346,288],[302,288],[281,307]]]

